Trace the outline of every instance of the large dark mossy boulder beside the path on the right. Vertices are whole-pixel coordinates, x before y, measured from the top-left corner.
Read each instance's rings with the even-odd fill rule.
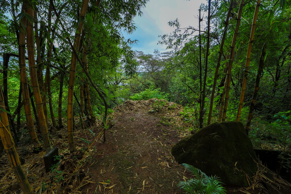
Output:
[[[171,152],[179,163],[217,175],[229,186],[248,186],[246,175],[252,180],[257,171],[253,145],[241,122],[211,124],[180,140]]]

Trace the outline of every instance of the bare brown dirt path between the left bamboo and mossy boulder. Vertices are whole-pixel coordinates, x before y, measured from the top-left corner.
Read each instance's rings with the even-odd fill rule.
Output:
[[[86,164],[96,184],[88,193],[182,193],[177,183],[184,169],[171,156],[180,139],[151,114],[127,114],[114,120],[106,144]],[[84,168],[86,168],[84,167]]]

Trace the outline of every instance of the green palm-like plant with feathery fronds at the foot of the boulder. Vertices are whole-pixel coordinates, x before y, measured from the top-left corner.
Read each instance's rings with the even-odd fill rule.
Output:
[[[178,187],[184,189],[189,194],[225,194],[226,190],[222,186],[222,182],[219,177],[208,177],[204,172],[201,172],[198,168],[195,168],[189,164],[181,164],[189,172],[194,174],[195,179],[189,179],[187,181],[179,181]]]

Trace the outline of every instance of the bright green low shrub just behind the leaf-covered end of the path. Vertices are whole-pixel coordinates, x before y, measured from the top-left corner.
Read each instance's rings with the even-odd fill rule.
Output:
[[[135,95],[131,96],[130,99],[132,100],[148,100],[151,98],[157,99],[165,99],[168,100],[168,94],[165,92],[161,92],[160,88],[157,89],[145,89],[143,92],[136,93]]]

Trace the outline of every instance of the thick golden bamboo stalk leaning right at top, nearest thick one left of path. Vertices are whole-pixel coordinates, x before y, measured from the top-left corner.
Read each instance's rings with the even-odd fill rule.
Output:
[[[73,45],[73,48],[75,50],[79,48],[81,33],[83,30],[83,25],[84,25],[83,20],[86,15],[88,3],[89,3],[89,0],[84,0],[81,11],[80,11],[79,26],[75,33],[75,39],[74,39],[74,45]],[[70,76],[69,76],[69,81],[68,81],[69,88],[68,88],[67,118],[68,118],[68,139],[69,139],[69,145],[70,145],[70,152],[76,151],[76,147],[74,144],[74,136],[73,136],[73,95],[74,95],[74,81],[75,81],[75,74],[76,74],[77,57],[78,56],[76,56],[76,54],[72,52]]]

